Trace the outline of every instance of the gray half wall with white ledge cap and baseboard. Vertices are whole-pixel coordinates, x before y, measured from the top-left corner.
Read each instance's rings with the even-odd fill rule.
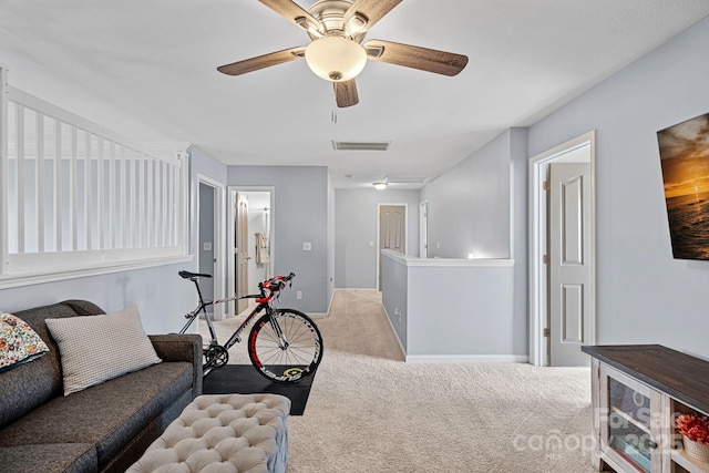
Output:
[[[514,259],[381,251],[382,304],[409,362],[527,362],[514,349]]]

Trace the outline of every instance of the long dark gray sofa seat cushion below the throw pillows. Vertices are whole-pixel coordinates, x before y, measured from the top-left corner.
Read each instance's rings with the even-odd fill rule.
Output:
[[[102,470],[191,389],[192,378],[192,363],[158,363],[54,398],[0,430],[0,445],[93,443]]]

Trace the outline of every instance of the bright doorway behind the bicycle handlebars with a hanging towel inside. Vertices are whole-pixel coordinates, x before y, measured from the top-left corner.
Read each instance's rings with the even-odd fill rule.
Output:
[[[229,258],[227,286],[230,294],[254,294],[258,284],[274,274],[274,187],[229,187]],[[234,316],[248,309],[248,301],[230,302]]]

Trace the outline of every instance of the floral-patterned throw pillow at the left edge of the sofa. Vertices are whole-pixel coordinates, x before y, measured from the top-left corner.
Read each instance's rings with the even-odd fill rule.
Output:
[[[0,373],[49,351],[47,343],[24,320],[0,313]]]

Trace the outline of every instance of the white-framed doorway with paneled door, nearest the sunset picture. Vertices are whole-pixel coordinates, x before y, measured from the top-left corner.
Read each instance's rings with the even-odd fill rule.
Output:
[[[536,366],[587,366],[580,346],[596,342],[595,140],[586,133],[530,162],[530,362]]]

